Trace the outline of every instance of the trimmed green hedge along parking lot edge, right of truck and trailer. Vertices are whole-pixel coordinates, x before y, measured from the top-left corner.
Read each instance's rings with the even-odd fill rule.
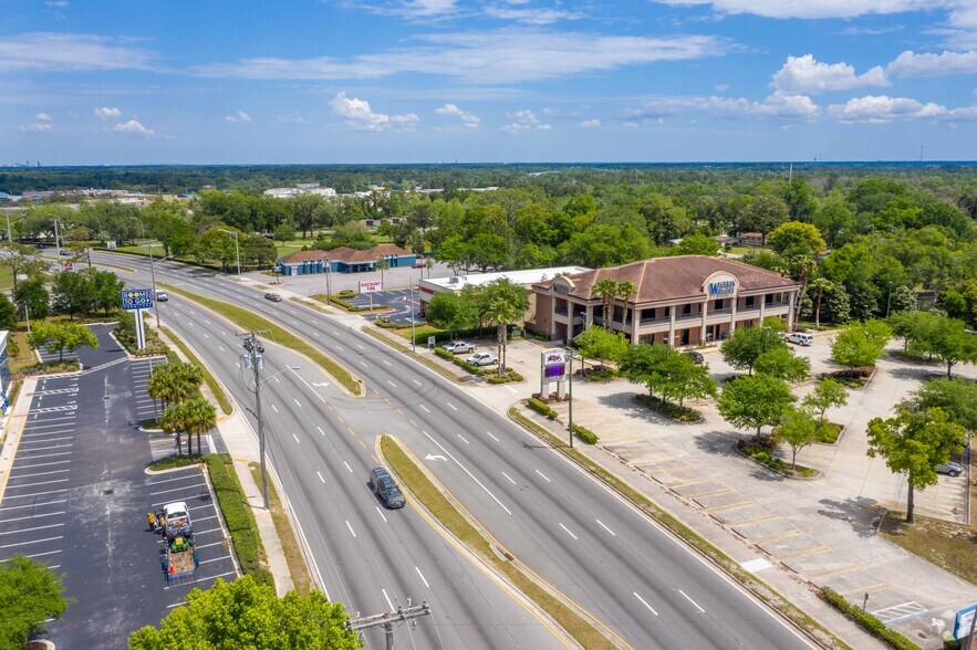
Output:
[[[264,548],[258,536],[258,524],[245,501],[245,491],[233,469],[233,461],[227,453],[210,453],[204,459],[210,473],[214,495],[220,505],[220,513],[230,532],[235,553],[241,569],[258,583],[274,586],[271,574],[262,568]]]

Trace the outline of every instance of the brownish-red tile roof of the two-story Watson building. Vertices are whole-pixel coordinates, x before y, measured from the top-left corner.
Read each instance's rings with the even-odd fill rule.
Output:
[[[779,273],[758,269],[744,262],[726,258],[708,258],[706,255],[677,255],[674,258],[653,258],[623,266],[596,269],[569,279],[575,285],[570,295],[584,300],[600,300],[592,292],[593,286],[604,279],[617,282],[633,282],[637,286],[634,303],[653,303],[676,298],[697,298],[703,296],[703,283],[716,272],[726,272],[739,281],[739,291],[753,290],[789,290],[798,283]],[[540,282],[533,286],[549,289],[552,280]]]

